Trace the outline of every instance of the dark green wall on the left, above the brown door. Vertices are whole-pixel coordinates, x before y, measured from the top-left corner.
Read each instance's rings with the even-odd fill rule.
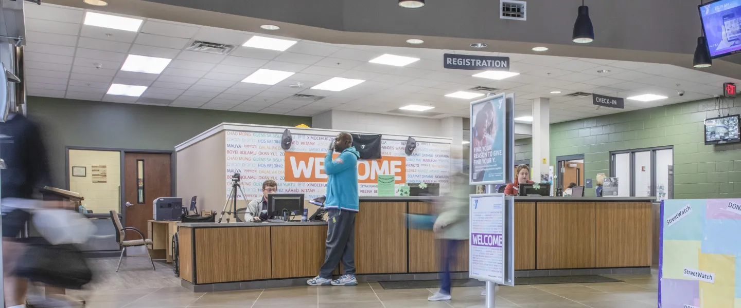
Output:
[[[28,97],[27,114],[43,129],[53,185],[65,186],[64,148],[169,150],[219,123],[311,126],[311,117]]]

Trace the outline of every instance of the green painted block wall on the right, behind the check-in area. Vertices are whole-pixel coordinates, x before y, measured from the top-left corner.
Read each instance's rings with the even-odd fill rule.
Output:
[[[722,114],[740,114],[726,101]],[[674,199],[740,198],[741,144],[705,146],[703,120],[715,100],[698,100],[551,125],[551,162],[584,154],[585,178],[610,173],[610,151],[674,146]],[[515,154],[517,157],[517,154]],[[594,196],[594,189],[585,191]]]

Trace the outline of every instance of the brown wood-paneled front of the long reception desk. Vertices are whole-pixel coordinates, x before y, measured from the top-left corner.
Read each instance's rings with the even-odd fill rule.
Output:
[[[431,213],[434,197],[361,197],[356,216],[359,281],[436,279],[431,231],[408,230],[404,213]],[[517,276],[648,273],[649,197],[516,197]],[[195,292],[305,284],[324,261],[326,222],[180,223],[183,286]],[[454,278],[468,277],[468,244]],[[339,271],[338,271],[339,273]]]

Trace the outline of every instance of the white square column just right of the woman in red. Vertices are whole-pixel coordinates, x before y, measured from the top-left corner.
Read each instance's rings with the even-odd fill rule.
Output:
[[[540,182],[541,174],[548,174],[551,165],[551,103],[548,98],[533,100],[533,161],[532,177]],[[544,162],[545,160],[545,162]]]

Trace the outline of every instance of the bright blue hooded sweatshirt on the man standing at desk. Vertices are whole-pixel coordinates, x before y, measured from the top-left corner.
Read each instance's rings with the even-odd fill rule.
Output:
[[[327,199],[325,208],[339,208],[345,211],[358,211],[358,158],[360,153],[354,146],[332,160],[333,151],[325,156],[327,179]]]

